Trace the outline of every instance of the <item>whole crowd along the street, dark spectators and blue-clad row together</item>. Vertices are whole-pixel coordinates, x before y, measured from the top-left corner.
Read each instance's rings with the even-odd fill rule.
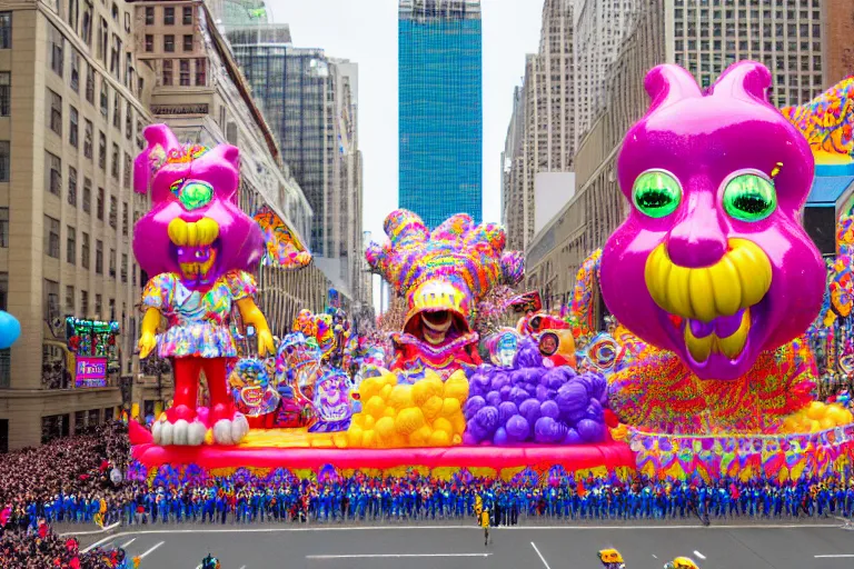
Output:
[[[512,482],[359,472],[351,478],[331,472],[320,480],[287,475],[256,478],[246,472],[181,481],[175,477],[111,479],[115,469],[128,472],[129,451],[127,427],[115,422],[39,449],[4,455],[0,461],[0,567],[117,567],[115,552],[78,553],[76,542],[53,533],[51,527],[67,523],[465,520],[474,516],[476,502],[489,510],[495,525],[693,517],[709,523],[733,518],[854,516],[854,478],[843,476],[713,483],[572,473]]]

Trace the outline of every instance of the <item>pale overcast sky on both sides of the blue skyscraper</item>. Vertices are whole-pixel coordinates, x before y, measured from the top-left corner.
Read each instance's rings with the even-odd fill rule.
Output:
[[[267,0],[294,46],[359,64],[359,144],[365,230],[383,237],[397,206],[397,0]],[[481,0],[484,30],[484,219],[500,221],[500,156],[525,54],[539,44],[542,0]]]

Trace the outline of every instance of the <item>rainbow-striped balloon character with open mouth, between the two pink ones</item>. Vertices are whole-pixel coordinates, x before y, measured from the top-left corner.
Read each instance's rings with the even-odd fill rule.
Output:
[[[481,362],[471,329],[476,303],[495,286],[522,280],[518,252],[505,252],[496,224],[476,226],[456,214],[433,232],[407,210],[389,213],[389,240],[371,243],[368,263],[407,300],[404,330],[394,335],[394,369],[454,371]]]

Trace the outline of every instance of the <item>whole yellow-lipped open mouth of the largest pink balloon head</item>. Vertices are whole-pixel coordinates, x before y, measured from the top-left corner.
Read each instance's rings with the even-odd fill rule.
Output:
[[[772,280],[771,261],[756,243],[731,239],[719,261],[699,268],[675,264],[663,243],[647,258],[645,280],[677,351],[698,377],[735,379],[747,371]]]

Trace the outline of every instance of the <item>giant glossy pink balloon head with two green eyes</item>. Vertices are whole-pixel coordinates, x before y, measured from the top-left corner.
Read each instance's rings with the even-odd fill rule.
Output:
[[[701,379],[744,376],[822,305],[824,263],[800,224],[813,154],[768,102],[771,79],[745,61],[704,92],[679,67],[653,69],[618,159],[630,208],[603,252],[605,302]]]

